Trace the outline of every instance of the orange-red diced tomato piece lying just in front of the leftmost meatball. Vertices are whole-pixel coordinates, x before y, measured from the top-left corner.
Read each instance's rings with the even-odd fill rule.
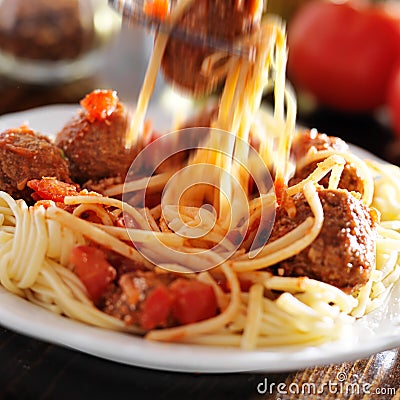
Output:
[[[75,185],[61,182],[55,178],[33,179],[27,183],[33,189],[35,200],[53,200],[58,203],[64,202],[65,196],[77,196],[78,190]]]

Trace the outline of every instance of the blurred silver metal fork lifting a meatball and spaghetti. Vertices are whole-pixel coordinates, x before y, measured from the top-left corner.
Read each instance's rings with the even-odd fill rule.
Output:
[[[148,0],[108,0],[108,4],[119,14],[124,22],[128,24],[139,24],[151,31],[163,32],[171,35],[173,38],[183,40],[190,44],[209,47],[247,60],[254,58],[254,48],[241,42],[228,42],[215,37],[209,37],[199,34],[192,30],[173,26],[167,21],[148,15],[144,12],[144,4]]]

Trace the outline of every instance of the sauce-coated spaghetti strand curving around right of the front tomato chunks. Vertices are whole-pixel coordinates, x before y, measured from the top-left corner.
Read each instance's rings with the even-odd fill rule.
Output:
[[[229,322],[233,321],[240,307],[240,286],[236,274],[232,271],[229,264],[224,263],[220,266],[226,276],[230,288],[230,302],[228,307],[216,317],[205,321],[196,322],[176,328],[150,331],[146,338],[160,341],[181,341],[188,337],[206,334],[221,329]]]

